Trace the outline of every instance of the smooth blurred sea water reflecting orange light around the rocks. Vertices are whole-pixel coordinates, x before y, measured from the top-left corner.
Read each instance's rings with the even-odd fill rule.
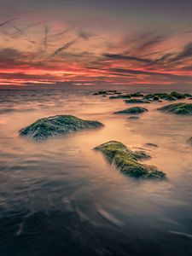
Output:
[[[88,90],[1,90],[0,104],[0,255],[191,255],[190,117],[154,102],[131,120],[113,115],[125,102]],[[105,127],[41,143],[18,137],[36,119],[67,113]],[[147,150],[166,180],[120,174],[92,150],[108,140]]]

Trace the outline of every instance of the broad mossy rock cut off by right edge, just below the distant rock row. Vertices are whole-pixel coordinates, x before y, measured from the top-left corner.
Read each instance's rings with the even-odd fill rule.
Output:
[[[162,108],[158,108],[158,110],[166,113],[192,115],[192,104],[180,102],[172,105],[167,105]]]

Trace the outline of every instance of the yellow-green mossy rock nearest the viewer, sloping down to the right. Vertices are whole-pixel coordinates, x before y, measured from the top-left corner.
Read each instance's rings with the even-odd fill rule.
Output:
[[[109,163],[116,166],[120,172],[131,177],[162,178],[166,176],[164,172],[160,172],[155,166],[139,163],[138,154],[134,154],[123,143],[111,141],[103,143],[95,149],[101,151]]]

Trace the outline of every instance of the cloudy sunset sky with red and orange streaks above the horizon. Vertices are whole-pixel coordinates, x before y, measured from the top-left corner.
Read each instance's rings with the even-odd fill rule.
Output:
[[[0,85],[192,84],[191,0],[1,0]]]

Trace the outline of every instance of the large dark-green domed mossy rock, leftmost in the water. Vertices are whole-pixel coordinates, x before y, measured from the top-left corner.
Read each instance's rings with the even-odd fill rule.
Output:
[[[55,115],[38,119],[32,125],[21,129],[20,136],[32,137],[35,140],[44,140],[73,131],[102,127],[98,121],[79,119],[73,115]]]

